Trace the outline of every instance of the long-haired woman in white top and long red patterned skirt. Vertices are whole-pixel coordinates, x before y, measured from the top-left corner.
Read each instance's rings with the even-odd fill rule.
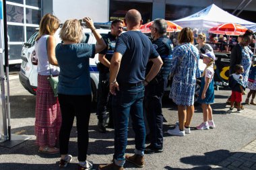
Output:
[[[42,17],[39,34],[36,38],[35,51],[38,57],[38,87],[36,91],[35,135],[40,153],[59,153],[55,148],[61,128],[61,110],[59,101],[54,97],[49,83],[50,68],[53,76],[59,75],[55,57],[54,34],[59,28],[59,19],[51,14]],[[50,66],[51,65],[51,66]]]

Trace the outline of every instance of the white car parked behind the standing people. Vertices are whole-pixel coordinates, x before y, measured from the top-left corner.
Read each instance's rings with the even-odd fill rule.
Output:
[[[108,28],[97,27],[97,31],[101,34],[108,34],[110,30]],[[55,38],[57,40],[57,44],[61,42],[59,38],[59,30],[55,33]],[[92,31],[88,28],[84,28],[84,34],[86,36],[86,40],[84,42],[88,44],[96,44],[96,39],[92,34]],[[22,48],[22,65],[20,67],[20,83],[27,89],[30,93],[36,95],[37,89],[37,62],[34,62],[34,44],[36,36],[38,36],[38,31],[35,32],[28,42],[24,43]],[[94,58],[90,58],[90,76],[91,76],[91,87],[92,87],[92,101],[97,100],[97,89],[98,89],[98,69],[96,64],[98,63],[98,54],[95,55]]]

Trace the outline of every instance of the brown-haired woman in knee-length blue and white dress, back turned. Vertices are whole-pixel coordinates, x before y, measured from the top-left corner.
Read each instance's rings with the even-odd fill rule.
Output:
[[[170,69],[173,80],[169,97],[178,105],[179,127],[167,132],[175,136],[185,136],[185,133],[190,133],[189,125],[194,113],[196,75],[200,74],[198,69],[199,52],[191,44],[193,42],[191,28],[183,28],[178,40],[180,45],[173,50]]]

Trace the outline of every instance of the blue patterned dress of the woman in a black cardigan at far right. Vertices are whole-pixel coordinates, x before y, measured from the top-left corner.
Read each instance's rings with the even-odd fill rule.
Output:
[[[248,46],[242,48],[242,66],[244,67],[243,75],[243,85],[247,87],[248,85],[248,77],[251,68],[251,59],[253,57],[253,52],[250,50]]]

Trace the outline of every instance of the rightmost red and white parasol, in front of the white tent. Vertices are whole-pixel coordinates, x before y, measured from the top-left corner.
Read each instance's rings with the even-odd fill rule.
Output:
[[[244,34],[248,30],[244,26],[241,26],[240,24],[220,24],[218,26],[215,26],[209,30],[210,33],[213,34],[223,34],[228,36],[239,36],[241,34]]]

